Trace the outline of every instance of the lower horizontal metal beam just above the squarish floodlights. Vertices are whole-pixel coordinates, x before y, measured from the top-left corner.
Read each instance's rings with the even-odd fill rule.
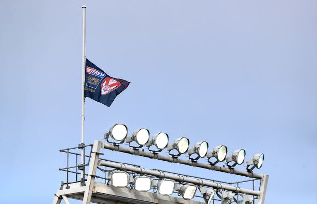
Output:
[[[244,193],[244,194],[248,194],[248,195],[252,195],[252,196],[259,196],[259,194],[260,194],[260,191],[253,191],[253,190],[249,190],[249,189],[239,188],[236,186],[228,186],[228,185],[223,185],[220,183],[213,183],[213,182],[203,181],[201,179],[193,179],[193,178],[188,178],[188,177],[184,177],[184,176],[180,176],[180,175],[173,175],[173,174],[168,174],[168,173],[164,173],[164,172],[149,170],[149,169],[145,169],[145,168],[137,168],[137,167],[127,166],[127,165],[120,164],[120,163],[111,163],[111,162],[105,162],[105,161],[100,160],[98,162],[98,165],[107,166],[107,167],[111,167],[111,168],[115,168],[115,169],[119,169],[119,170],[133,171],[136,173],[146,174],[146,175],[151,175],[151,176],[156,176],[156,177],[168,178],[168,179],[172,179],[175,181],[192,183],[195,185],[203,185],[203,186],[208,186],[208,187],[212,187],[212,188],[216,188],[216,189],[224,189],[224,190],[231,191],[231,192]]]

